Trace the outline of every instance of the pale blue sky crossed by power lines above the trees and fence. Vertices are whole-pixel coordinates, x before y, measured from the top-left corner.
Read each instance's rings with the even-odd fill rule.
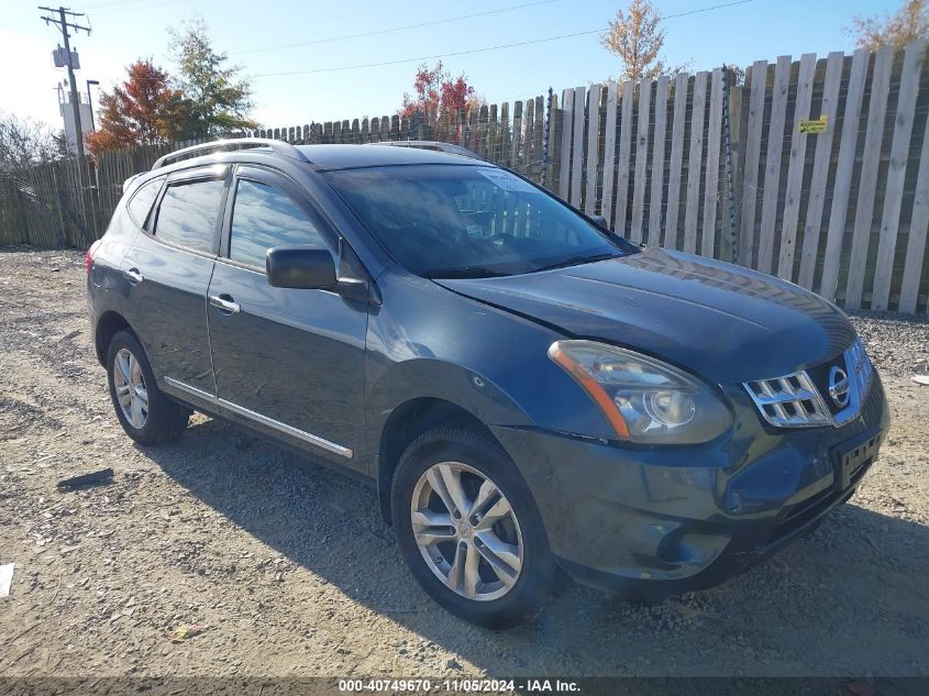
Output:
[[[602,81],[617,76],[620,67],[599,44],[597,33],[589,32],[605,29],[628,2],[69,1],[73,11],[87,14],[77,21],[92,27],[89,36],[81,32],[71,40],[80,54],[81,91],[86,92],[88,79],[99,80],[102,89],[122,81],[126,66],[139,57],[153,57],[170,73],[166,30],[199,15],[210,27],[214,48],[229,53],[230,60],[251,77],[254,117],[266,128],[392,114],[403,92],[412,90],[417,65],[423,59],[432,64],[440,56],[445,56],[442,60],[452,74],[464,73],[488,103],[535,97],[549,87],[561,93]],[[900,0],[750,0],[707,9],[733,0],[653,1],[666,18],[662,24],[666,62],[689,62],[696,69],[722,63],[744,67],[778,55],[848,52],[852,41],[842,29],[853,15],[883,14],[900,4]],[[51,56],[60,34],[41,20],[47,12],[40,11],[34,0],[3,4],[0,111],[60,128],[56,86],[66,71],[54,68]],[[566,34],[580,35],[526,43]],[[509,44],[523,45],[496,48]],[[371,65],[376,63],[389,65]],[[93,90],[96,109],[99,91]]]

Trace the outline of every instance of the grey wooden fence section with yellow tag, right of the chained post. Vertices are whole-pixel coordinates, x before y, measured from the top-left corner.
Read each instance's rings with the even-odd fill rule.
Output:
[[[761,60],[745,92],[738,261],[845,309],[926,309],[926,43]]]

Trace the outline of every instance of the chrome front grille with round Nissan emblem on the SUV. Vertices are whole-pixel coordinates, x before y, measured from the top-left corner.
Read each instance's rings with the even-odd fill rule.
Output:
[[[776,428],[838,428],[858,417],[873,374],[864,345],[855,339],[849,350],[827,363],[746,382],[744,387],[762,417]]]

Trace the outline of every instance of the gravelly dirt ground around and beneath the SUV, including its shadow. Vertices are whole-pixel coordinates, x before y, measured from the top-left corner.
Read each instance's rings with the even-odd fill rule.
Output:
[[[630,605],[571,586],[472,627],[413,583],[374,493],[196,416],[140,449],[77,253],[0,253],[0,675],[929,675],[929,323],[855,318],[893,430],[853,500],[766,565]],[[111,466],[111,484],[58,493]],[[187,639],[173,634],[199,627]],[[191,632],[196,632],[191,631]]]

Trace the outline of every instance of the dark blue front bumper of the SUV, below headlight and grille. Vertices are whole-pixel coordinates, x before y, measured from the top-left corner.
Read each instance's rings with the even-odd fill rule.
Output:
[[[493,429],[568,574],[640,597],[717,585],[851,498],[889,426],[876,374],[860,416],[841,428],[768,428],[743,395],[730,396],[737,426],[700,446],[632,449]],[[843,469],[837,462],[849,451],[858,457],[847,456]]]

